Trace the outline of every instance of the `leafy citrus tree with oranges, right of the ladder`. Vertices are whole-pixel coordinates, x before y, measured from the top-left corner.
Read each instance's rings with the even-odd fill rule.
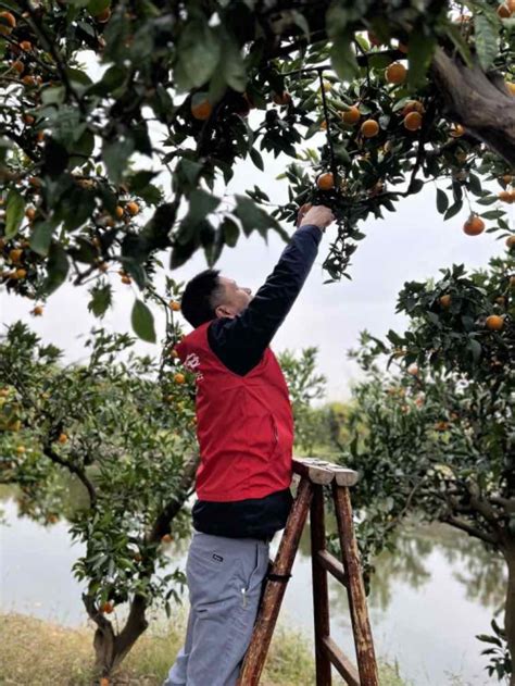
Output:
[[[502,556],[504,626],[481,637],[500,677],[515,656],[514,266],[499,258],[488,271],[460,265],[437,282],[405,284],[398,311],[410,328],[388,340],[364,333],[353,353],[365,376],[341,458],[362,476],[353,502],[365,553],[390,545],[417,513]]]

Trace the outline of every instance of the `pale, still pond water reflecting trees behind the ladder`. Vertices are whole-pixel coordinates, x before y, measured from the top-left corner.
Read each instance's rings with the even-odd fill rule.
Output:
[[[0,609],[68,626],[84,624],[83,586],[71,573],[83,548],[71,541],[66,523],[45,527],[20,517],[9,496],[1,508],[5,521],[0,524]],[[309,541],[306,527],[280,616],[311,640]],[[171,566],[184,564],[185,546],[171,546],[169,554]],[[498,684],[488,679],[479,654],[485,645],[475,635],[490,633],[504,584],[501,560],[492,559],[478,541],[443,525],[405,527],[395,553],[378,558],[368,597],[378,656],[397,662],[402,676],[416,686]],[[329,591],[331,635],[353,656],[344,588],[331,579]]]

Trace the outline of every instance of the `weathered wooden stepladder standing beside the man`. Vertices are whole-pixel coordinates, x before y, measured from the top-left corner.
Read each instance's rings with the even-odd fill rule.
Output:
[[[341,674],[346,684],[378,686],[374,643],[352,524],[349,491],[350,487],[357,482],[357,473],[312,458],[294,458],[293,472],[300,476],[297,497],[275,561],[271,562],[272,569],[264,584],[252,639],[241,666],[238,686],[258,686],[260,683],[309,511],[311,511],[316,686],[330,686],[331,664]],[[331,489],[335,502],[342,562],[326,550],[324,487]],[[347,588],[357,669],[330,637],[327,573],[332,574]]]

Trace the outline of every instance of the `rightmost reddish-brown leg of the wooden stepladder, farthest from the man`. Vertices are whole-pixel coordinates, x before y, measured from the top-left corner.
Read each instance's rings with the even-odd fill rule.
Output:
[[[338,533],[343,565],[347,572],[347,593],[356,647],[357,670],[362,686],[378,686],[377,663],[374,653],[365,588],[360,566],[360,554],[352,524],[352,506],[349,488],[332,482]]]

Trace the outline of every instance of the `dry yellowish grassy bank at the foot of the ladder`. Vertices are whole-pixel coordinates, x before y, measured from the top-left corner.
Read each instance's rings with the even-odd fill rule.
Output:
[[[89,626],[72,629],[35,618],[0,614],[0,683],[5,686],[91,686],[92,634]],[[153,623],[136,644],[113,686],[161,686],[181,646],[183,614],[166,625]],[[406,686],[395,671],[381,670],[382,686]],[[263,686],[311,686],[314,661],[304,636],[279,627],[262,678]],[[335,678],[335,684],[338,678]]]

